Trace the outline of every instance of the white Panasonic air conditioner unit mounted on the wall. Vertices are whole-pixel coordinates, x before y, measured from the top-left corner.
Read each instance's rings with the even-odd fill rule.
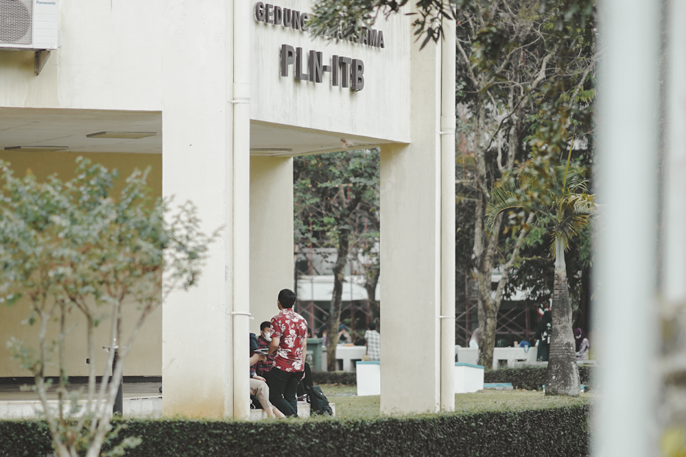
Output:
[[[58,0],[0,0],[0,48],[57,49]]]

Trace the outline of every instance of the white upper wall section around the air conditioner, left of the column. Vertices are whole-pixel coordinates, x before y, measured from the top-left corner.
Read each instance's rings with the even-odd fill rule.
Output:
[[[0,49],[0,106],[161,110],[161,0],[60,0],[62,47]]]

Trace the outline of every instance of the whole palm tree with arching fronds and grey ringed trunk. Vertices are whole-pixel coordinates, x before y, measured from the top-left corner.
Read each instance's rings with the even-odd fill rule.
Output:
[[[580,381],[571,329],[565,249],[569,247],[569,240],[589,223],[595,212],[595,201],[585,179],[586,169],[570,162],[571,148],[566,164],[554,165],[550,156],[536,155],[512,175],[501,178],[488,201],[488,223],[490,230],[498,230],[499,227],[495,227],[498,214],[508,211],[515,230],[517,227],[528,229],[525,217],[535,214],[537,224],[553,235],[553,333],[545,394],[577,397]]]

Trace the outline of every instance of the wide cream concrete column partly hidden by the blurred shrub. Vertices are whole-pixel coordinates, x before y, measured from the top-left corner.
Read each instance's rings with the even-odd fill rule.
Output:
[[[220,418],[233,415],[233,5],[163,7],[163,195],[193,201],[204,232],[224,226],[198,286],[163,306],[163,414]]]

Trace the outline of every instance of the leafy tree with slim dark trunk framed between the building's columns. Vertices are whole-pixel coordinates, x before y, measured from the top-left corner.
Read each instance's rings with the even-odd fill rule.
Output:
[[[327,369],[335,371],[345,266],[351,249],[370,256],[368,285],[379,278],[373,254],[378,239],[379,154],[376,150],[342,151],[294,158],[294,221],[296,243],[333,246],[333,297],[329,308]],[[360,230],[364,221],[372,230]],[[362,235],[361,235],[362,233]],[[369,289],[368,289],[369,290]],[[373,293],[370,297],[374,297]]]

